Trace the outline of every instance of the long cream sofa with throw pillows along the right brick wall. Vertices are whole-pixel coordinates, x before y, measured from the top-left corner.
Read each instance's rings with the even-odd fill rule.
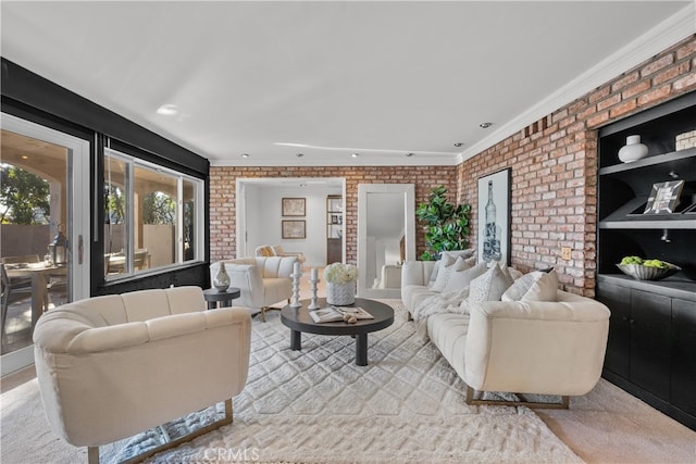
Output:
[[[505,274],[500,267],[488,269],[485,264],[483,266],[483,274],[474,279],[486,280],[488,275]],[[434,262],[406,262],[401,298],[410,314],[432,313],[421,324],[467,384],[467,403],[489,403],[476,398],[485,391],[496,391],[560,396],[560,405],[568,407],[569,396],[585,394],[597,384],[609,329],[609,310],[604,304],[556,288],[550,290],[552,298],[548,298],[547,286],[546,297],[554,301],[534,301],[532,287],[527,291],[531,297],[518,294],[519,301],[499,301],[500,296],[493,296],[495,301],[471,303],[468,297],[458,308],[433,311],[428,305],[457,294],[456,291],[433,290],[436,278],[428,287],[434,267]],[[514,280],[515,288],[519,289],[518,284],[523,280],[529,284],[537,278],[549,280],[555,277],[555,274],[539,277],[542,274],[519,277]],[[510,277],[508,279],[512,283]],[[473,279],[470,285],[473,291]],[[469,290],[460,289],[460,297]],[[505,289],[508,290],[512,290],[511,285]],[[536,297],[544,291],[537,286]]]

